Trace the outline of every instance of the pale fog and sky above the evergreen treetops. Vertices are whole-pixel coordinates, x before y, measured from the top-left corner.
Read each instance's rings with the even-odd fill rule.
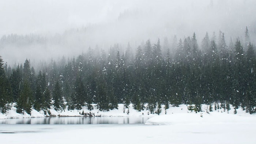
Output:
[[[206,32],[211,37],[219,30],[227,42],[242,40],[246,26],[254,43],[255,5],[255,0],[0,1],[0,55],[9,65],[26,58],[37,65],[76,57],[96,45],[108,52],[115,43],[121,50],[129,42],[135,51],[147,39],[172,42],[174,35],[183,39],[194,32],[199,45]],[[8,35],[16,38],[3,42]]]

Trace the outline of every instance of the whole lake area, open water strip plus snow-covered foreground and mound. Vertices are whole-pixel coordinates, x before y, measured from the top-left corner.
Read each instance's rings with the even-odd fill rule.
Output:
[[[48,117],[0,120],[1,144],[255,144],[255,115],[173,114],[148,117]],[[151,119],[151,120],[152,120]]]

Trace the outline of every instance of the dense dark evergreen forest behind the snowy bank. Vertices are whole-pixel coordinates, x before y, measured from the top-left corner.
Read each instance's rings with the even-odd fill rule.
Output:
[[[30,113],[31,107],[47,111],[50,106],[91,110],[95,103],[99,110],[110,110],[118,103],[132,103],[138,111],[159,114],[162,104],[165,109],[169,104],[194,104],[195,111],[207,104],[211,111],[212,103],[221,102],[227,110],[232,104],[234,113],[239,106],[255,113],[256,58],[247,27],[245,41],[230,41],[229,46],[221,31],[218,39],[206,33],[201,49],[195,33],[176,41],[174,37],[169,46],[165,39],[161,46],[159,39],[156,44],[148,39],[135,54],[129,43],[123,54],[118,45],[109,53],[89,48],[77,58],[63,57],[59,64],[52,60],[38,73],[29,60],[10,68],[0,59],[0,108],[4,113],[16,102],[19,113]]]

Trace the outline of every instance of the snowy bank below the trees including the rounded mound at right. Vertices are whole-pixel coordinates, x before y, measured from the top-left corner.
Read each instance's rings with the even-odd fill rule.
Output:
[[[144,105],[145,107],[147,105]],[[93,104],[93,110],[88,110],[86,106],[82,107],[81,110],[68,110],[67,108],[63,111],[61,110],[54,110],[53,107],[49,109],[49,114],[44,111],[36,111],[32,109],[31,115],[27,114],[26,112],[24,114],[16,113],[16,107],[14,107],[14,103],[12,104],[11,110],[8,110],[6,113],[2,114],[0,113],[0,119],[6,119],[6,118],[32,118],[32,117],[47,117],[47,116],[69,116],[69,117],[83,117],[84,114],[91,113],[94,116],[101,116],[101,117],[154,117],[148,120],[147,124],[175,124],[178,122],[187,123],[187,122],[203,122],[203,121],[214,121],[217,119],[218,121],[221,121],[226,118],[230,118],[230,121],[233,121],[233,119],[238,119],[243,117],[256,117],[256,115],[251,115],[249,113],[246,113],[245,110],[242,110],[242,108],[237,109],[237,114],[234,114],[234,108],[231,107],[229,111],[219,107],[219,109],[216,109],[210,114],[206,113],[207,109],[209,107],[207,105],[202,105],[202,112],[195,113],[194,111],[189,111],[187,105],[180,105],[179,107],[172,107],[170,105],[169,109],[164,109],[164,105],[162,105],[161,113],[159,116],[157,114],[151,114],[149,110],[144,109],[142,111],[138,111],[133,109],[133,105],[129,105],[129,108],[126,108],[123,104],[118,104],[118,109],[113,110],[103,110],[100,111],[97,109],[97,105]],[[203,117],[200,117],[201,114]],[[157,117],[156,117],[157,116]]]

